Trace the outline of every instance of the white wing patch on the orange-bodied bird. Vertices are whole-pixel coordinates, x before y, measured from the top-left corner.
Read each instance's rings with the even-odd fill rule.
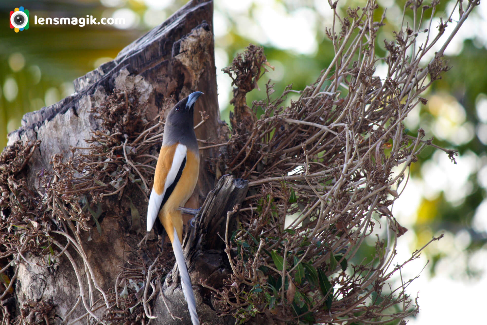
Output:
[[[150,192],[149,198],[149,207],[147,208],[147,231],[150,231],[154,226],[155,219],[159,214],[159,210],[161,209],[161,203],[168,190],[168,187],[174,183],[176,179],[176,175],[178,174],[179,169],[181,168],[181,164],[183,163],[184,158],[186,158],[187,148],[185,145],[178,144],[176,150],[174,151],[174,157],[172,158],[172,165],[171,169],[166,176],[166,183],[164,184],[164,191],[161,194],[157,194],[154,191],[154,187],[152,187],[152,191]]]

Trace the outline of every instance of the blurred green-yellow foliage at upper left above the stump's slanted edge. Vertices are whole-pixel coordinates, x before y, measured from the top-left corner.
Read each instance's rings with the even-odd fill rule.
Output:
[[[106,17],[98,1],[23,1],[30,28],[15,33],[9,15],[15,4],[1,1],[0,10],[0,147],[22,116],[74,92],[73,80],[110,60],[146,29],[111,26],[35,25],[34,17]],[[102,58],[101,61],[97,61]]]

